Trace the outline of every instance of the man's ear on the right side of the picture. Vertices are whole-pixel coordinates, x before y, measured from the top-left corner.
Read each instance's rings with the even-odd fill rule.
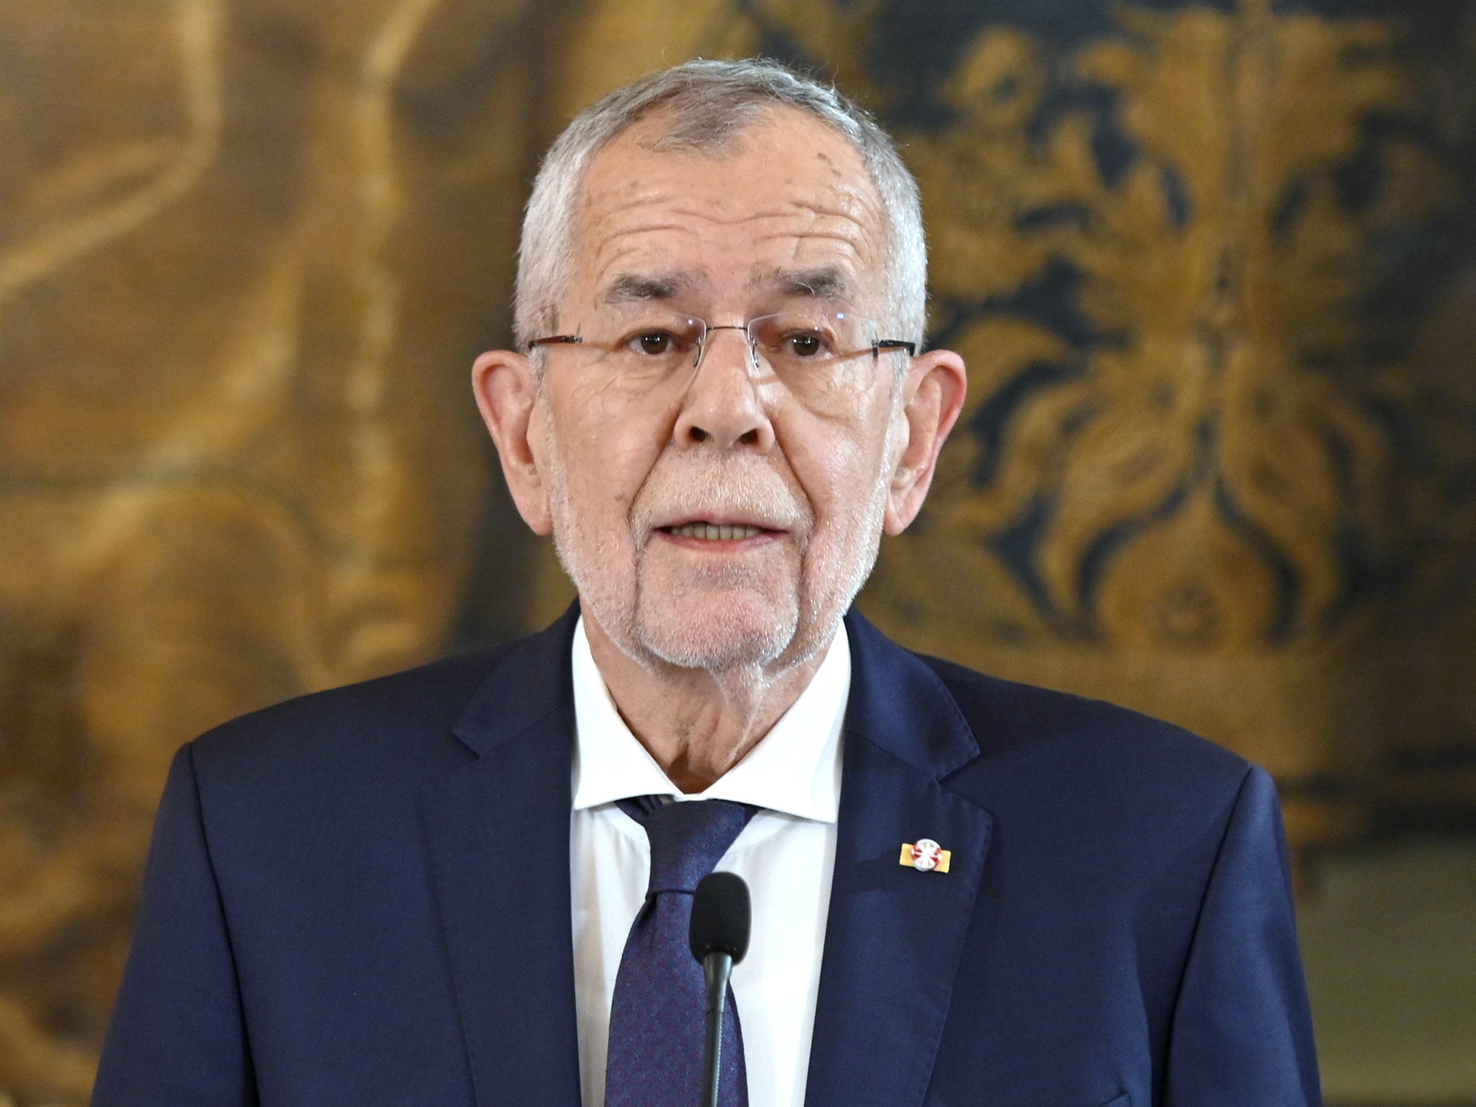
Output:
[[[894,416],[897,446],[893,455],[892,487],[887,490],[887,534],[900,534],[927,499],[937,453],[953,430],[968,391],[964,359],[952,350],[928,350],[912,359],[902,381],[902,407]]]

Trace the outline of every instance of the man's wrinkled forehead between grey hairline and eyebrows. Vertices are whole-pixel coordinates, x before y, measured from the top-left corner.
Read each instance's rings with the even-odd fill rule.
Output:
[[[843,134],[779,108],[713,148],[669,149],[669,124],[657,112],[590,159],[571,295],[881,295],[886,214]]]

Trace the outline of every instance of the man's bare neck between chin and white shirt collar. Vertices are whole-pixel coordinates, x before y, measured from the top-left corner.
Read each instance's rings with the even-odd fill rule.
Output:
[[[821,648],[788,666],[682,669],[641,664],[587,610],[584,635],[620,717],[672,784],[688,794],[708,788],[763,739],[809,686],[827,654]]]

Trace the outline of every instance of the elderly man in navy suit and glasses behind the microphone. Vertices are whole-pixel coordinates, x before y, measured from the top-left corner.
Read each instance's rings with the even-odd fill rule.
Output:
[[[714,868],[729,1107],[1317,1103],[1266,775],[849,613],[964,397],[924,270],[776,65],[568,127],[474,387],[579,605],[180,751],[96,1104],[692,1104]]]

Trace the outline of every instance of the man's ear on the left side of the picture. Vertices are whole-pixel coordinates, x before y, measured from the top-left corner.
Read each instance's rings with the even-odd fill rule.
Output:
[[[549,534],[554,517],[543,483],[543,419],[533,362],[511,350],[490,350],[471,366],[471,390],[492,431],[512,502],[534,534]]]

